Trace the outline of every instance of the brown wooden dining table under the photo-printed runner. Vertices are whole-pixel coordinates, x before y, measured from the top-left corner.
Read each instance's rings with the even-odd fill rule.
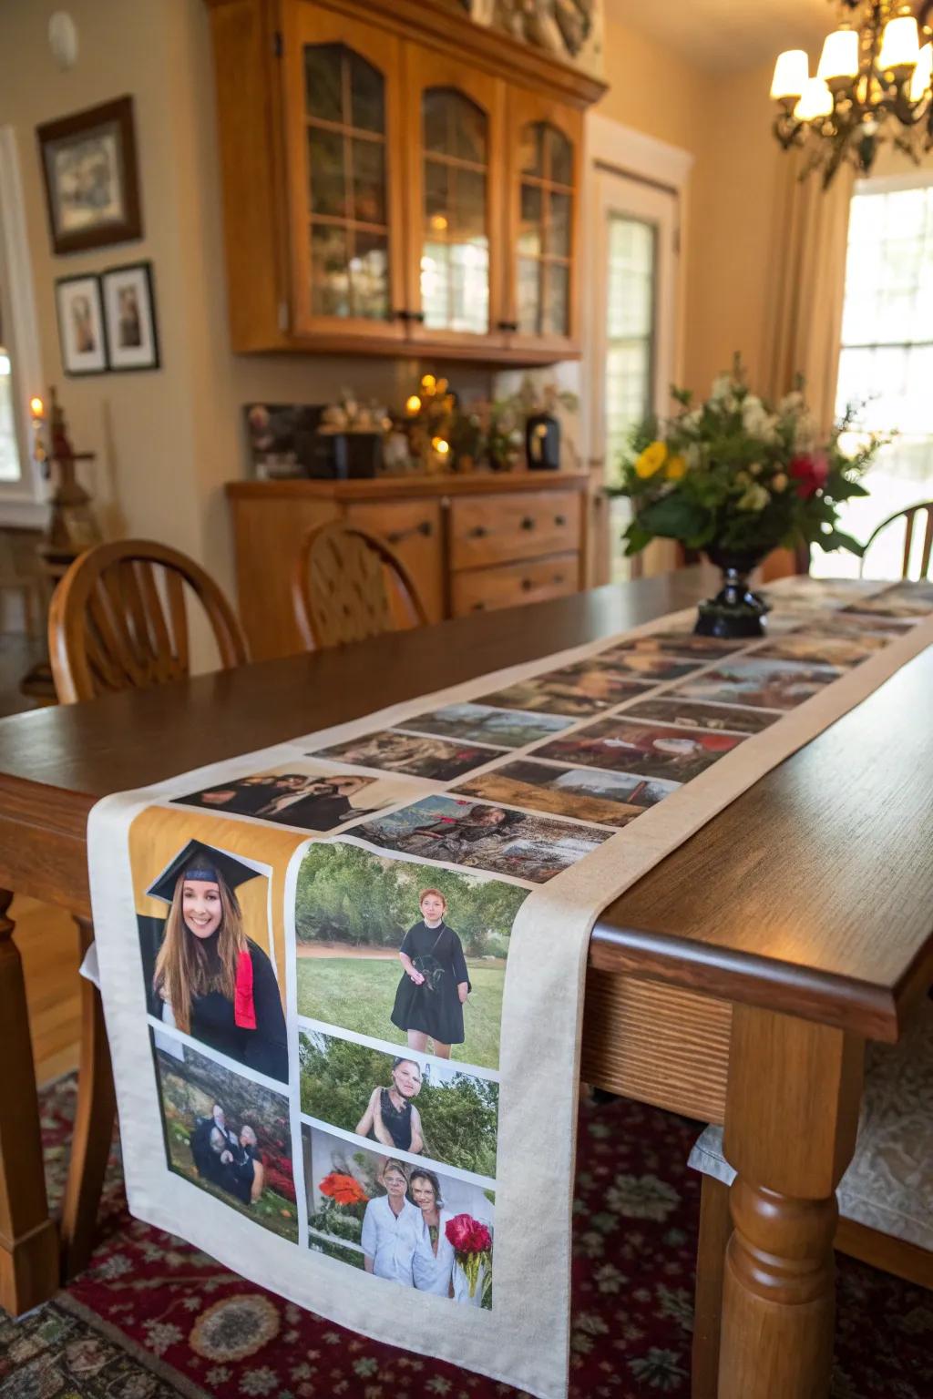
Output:
[[[624,632],[692,606],[706,583],[699,569],[683,569],[0,720],[7,1311],[52,1297],[87,1262],[109,1149],[106,1037],[85,982],[71,1164],[53,1220],[8,908],[14,893],[57,904],[87,946],[94,803]],[[855,1146],[864,1045],[895,1042],[933,981],[932,694],[929,648],[596,922],[585,1081],[725,1123],[739,1172],[722,1288],[705,1288],[722,1295],[718,1378],[695,1374],[697,1399],[829,1392],[835,1188]],[[697,1318],[698,1328],[718,1321]]]

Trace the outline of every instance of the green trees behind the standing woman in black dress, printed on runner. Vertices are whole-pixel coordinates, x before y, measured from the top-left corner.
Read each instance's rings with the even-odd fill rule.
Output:
[[[358,845],[312,845],[298,872],[298,942],[397,949],[421,918],[418,890],[439,888],[467,957],[505,957],[526,891],[498,880],[386,860]]]

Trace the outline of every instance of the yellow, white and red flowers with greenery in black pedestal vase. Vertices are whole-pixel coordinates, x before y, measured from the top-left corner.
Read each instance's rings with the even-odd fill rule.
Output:
[[[671,393],[680,410],[639,428],[622,463],[620,494],[635,506],[627,554],[656,537],[754,558],[799,544],[862,554],[838,529],[839,505],[867,495],[860,477],[885,439],[855,434],[855,407],[821,439],[803,381],[771,406],[750,392],[739,357],[705,403]],[[843,435],[856,443],[850,453]]]

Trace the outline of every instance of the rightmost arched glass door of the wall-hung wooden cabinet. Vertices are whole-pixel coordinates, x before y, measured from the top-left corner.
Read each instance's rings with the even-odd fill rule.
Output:
[[[509,313],[525,343],[569,347],[576,334],[579,113],[539,115],[547,106],[532,94],[512,94]]]

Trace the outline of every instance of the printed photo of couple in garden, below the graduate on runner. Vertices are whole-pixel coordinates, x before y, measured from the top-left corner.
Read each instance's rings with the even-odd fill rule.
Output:
[[[288,1100],[150,1028],[169,1171],[298,1241]]]

